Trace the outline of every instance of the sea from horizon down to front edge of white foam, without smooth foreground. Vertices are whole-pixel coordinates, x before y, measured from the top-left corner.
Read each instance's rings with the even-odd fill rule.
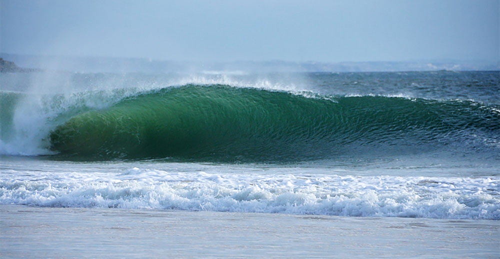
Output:
[[[0,94],[4,206],[500,220],[498,71],[2,73]]]

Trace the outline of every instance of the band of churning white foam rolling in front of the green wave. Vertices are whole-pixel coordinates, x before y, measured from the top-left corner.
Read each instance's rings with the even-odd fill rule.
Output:
[[[286,170],[286,169],[283,169]],[[356,217],[500,219],[500,178],[167,172],[4,172],[1,204]]]

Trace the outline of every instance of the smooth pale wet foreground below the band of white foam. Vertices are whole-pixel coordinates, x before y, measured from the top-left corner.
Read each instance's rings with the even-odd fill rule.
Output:
[[[1,206],[2,258],[498,258],[498,221]]]

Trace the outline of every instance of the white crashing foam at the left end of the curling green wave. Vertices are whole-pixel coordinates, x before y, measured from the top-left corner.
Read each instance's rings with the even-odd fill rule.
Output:
[[[63,94],[25,94],[16,103],[12,137],[1,140],[2,155],[50,155],[48,135],[58,124],[89,109],[103,109],[139,92],[139,89],[110,89]],[[61,116],[67,114],[67,116]]]

